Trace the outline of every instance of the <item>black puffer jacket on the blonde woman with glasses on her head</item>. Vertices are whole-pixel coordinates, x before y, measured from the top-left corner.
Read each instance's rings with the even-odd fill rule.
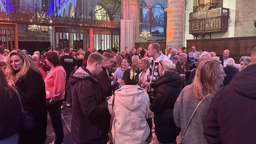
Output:
[[[179,73],[166,73],[158,78],[156,98],[150,105],[154,112],[155,134],[161,143],[171,143],[180,133],[173,119],[173,108],[182,89]]]

